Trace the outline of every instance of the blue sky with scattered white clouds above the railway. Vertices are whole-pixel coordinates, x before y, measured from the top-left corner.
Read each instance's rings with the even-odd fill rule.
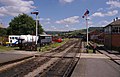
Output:
[[[120,0],[0,0],[0,23],[4,27],[15,16],[39,11],[39,21],[45,31],[72,31],[86,28],[86,9],[89,27],[104,27],[120,18]]]

